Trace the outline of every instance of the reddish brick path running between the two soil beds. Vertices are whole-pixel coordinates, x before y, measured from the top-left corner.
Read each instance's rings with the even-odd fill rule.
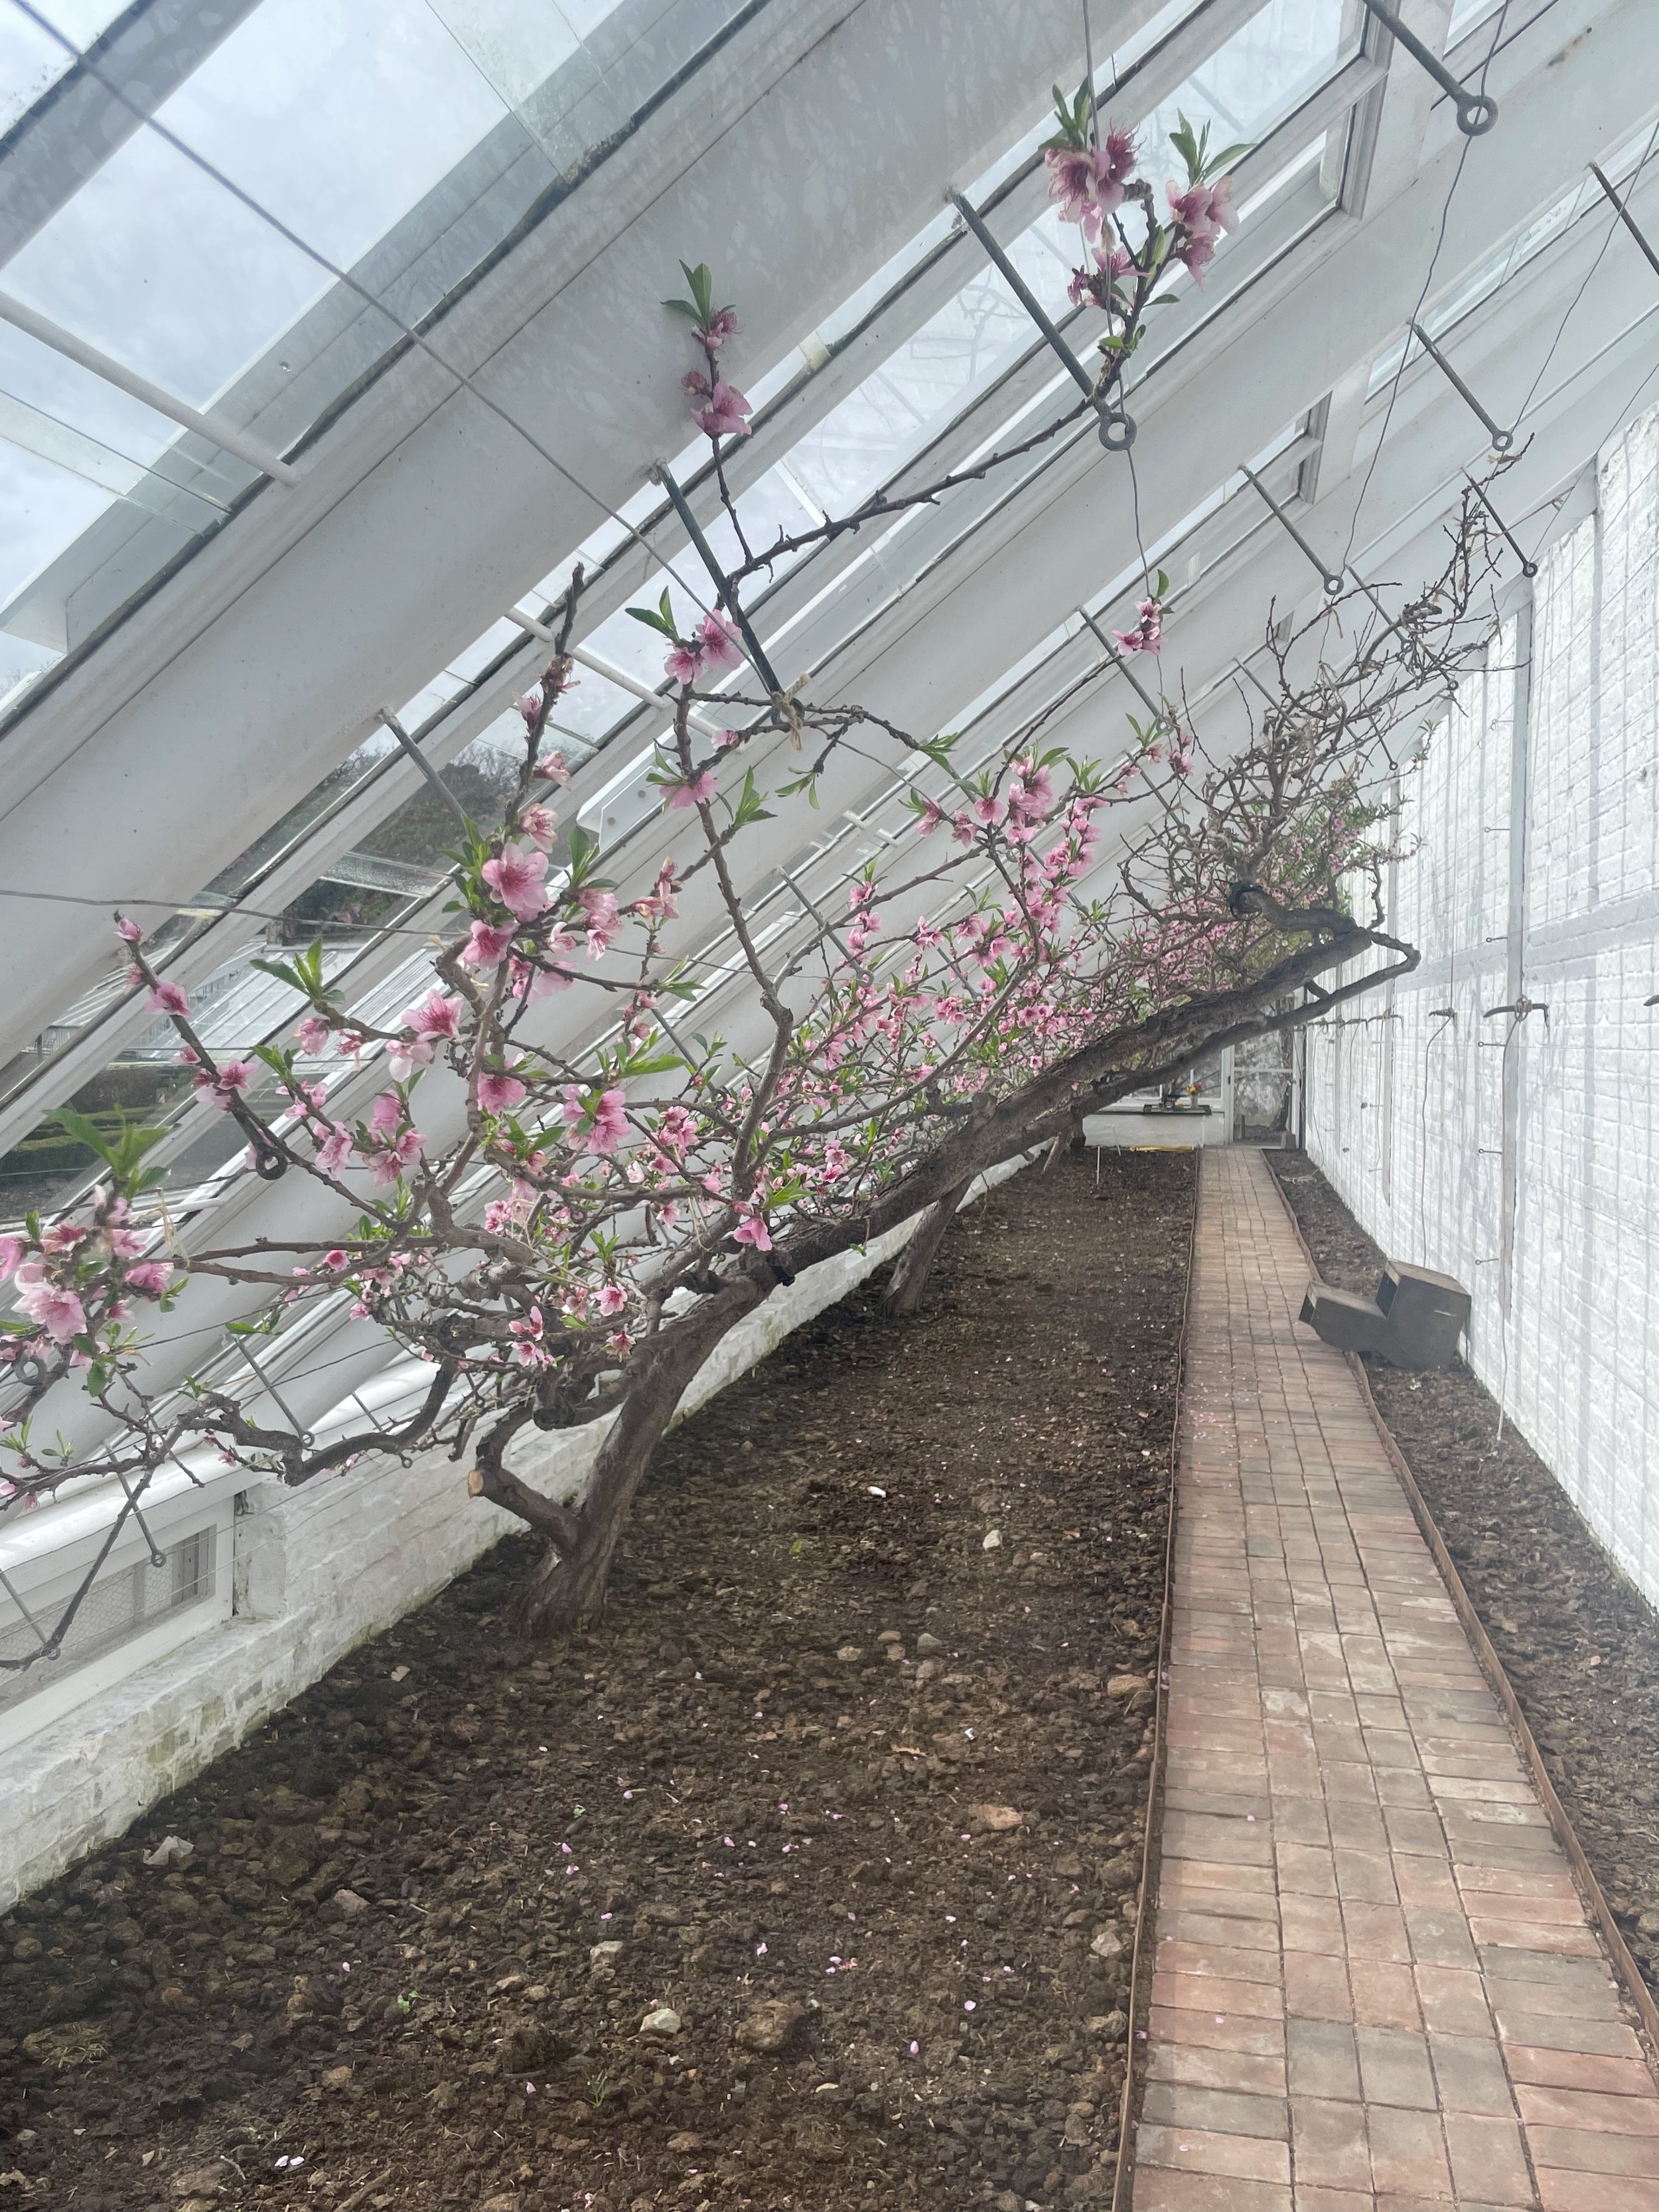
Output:
[[[1659,2095],[1259,1152],[1201,1155],[1135,2212],[1659,2212]]]

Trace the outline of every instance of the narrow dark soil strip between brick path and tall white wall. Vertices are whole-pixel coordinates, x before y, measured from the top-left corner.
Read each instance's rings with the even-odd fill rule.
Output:
[[[1321,1276],[1376,1290],[1383,1254],[1301,1152],[1270,1155]],[[1391,1254],[1409,1259],[1411,1254]],[[1659,1619],[1513,1420],[1462,1365],[1367,1358],[1586,1858],[1659,1993]]]

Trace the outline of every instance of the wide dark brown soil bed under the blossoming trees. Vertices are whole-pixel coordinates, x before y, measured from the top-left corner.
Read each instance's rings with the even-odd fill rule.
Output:
[[[0,2183],[1106,2203],[1190,1212],[1015,1177],[668,1438],[602,1630],[518,1644],[509,1542],[20,1905]]]

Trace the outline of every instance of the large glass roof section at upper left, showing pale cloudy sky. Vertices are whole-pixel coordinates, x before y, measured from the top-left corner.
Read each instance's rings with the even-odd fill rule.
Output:
[[[285,451],[374,374],[411,321],[467,283],[560,175],[626,135],[737,7],[263,0],[157,113],[254,206],[146,128],[7,263],[4,288],[177,398],[257,420],[261,442]],[[75,22],[88,11],[82,0]],[[0,0],[0,22],[13,15],[27,22]],[[66,13],[62,27],[69,35]],[[100,27],[86,22],[84,35]],[[40,71],[22,55],[13,75],[27,91]],[[549,137],[549,117],[557,168],[531,135]],[[24,551],[0,564],[0,630],[11,633],[0,703],[119,613],[257,482],[170,420],[133,416],[131,403],[124,436],[108,438],[86,372],[35,367],[40,389],[18,389],[4,380],[11,365],[0,354],[0,392],[111,442],[115,462],[42,456],[33,447],[44,434],[15,462],[20,418],[0,420],[0,473],[15,469],[11,507],[27,507]],[[197,487],[204,467],[208,482],[195,495],[150,487],[124,498],[119,460],[153,467],[164,453],[164,484]],[[104,493],[97,511],[88,484]]]

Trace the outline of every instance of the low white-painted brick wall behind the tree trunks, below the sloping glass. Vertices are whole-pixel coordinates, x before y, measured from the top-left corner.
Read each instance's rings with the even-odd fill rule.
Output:
[[[964,1203],[1024,1164],[1020,1157],[993,1168]],[[776,1290],[721,1340],[677,1418],[695,1413],[792,1329],[856,1290],[905,1245],[911,1228],[907,1221],[863,1252],[807,1267]],[[606,1422],[591,1422],[533,1433],[513,1453],[513,1467],[568,1498],[604,1429]],[[447,1451],[429,1451],[409,1467],[385,1460],[301,1491],[279,1484],[243,1491],[232,1617],[113,1683],[104,1679],[108,1668],[100,1668],[100,1688],[86,1703],[0,1754],[0,1911],[119,1836],[354,1644],[389,1628],[522,1526],[467,1498],[465,1480],[465,1467]]]

